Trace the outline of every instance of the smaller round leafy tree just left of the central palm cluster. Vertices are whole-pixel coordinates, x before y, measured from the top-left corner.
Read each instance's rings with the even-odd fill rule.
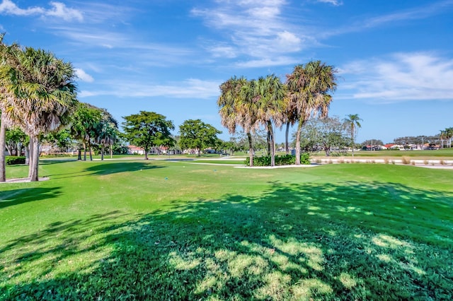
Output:
[[[189,119],[179,126],[179,134],[180,148],[195,148],[200,157],[202,149],[215,146],[217,134],[222,134],[222,131],[200,119]]]

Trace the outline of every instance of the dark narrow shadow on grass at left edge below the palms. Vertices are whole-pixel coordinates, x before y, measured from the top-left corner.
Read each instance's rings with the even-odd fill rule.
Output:
[[[61,187],[52,188],[24,188],[24,189],[11,189],[0,192],[0,209],[8,206],[18,205],[20,203],[27,203],[29,201],[41,201],[45,199],[53,199],[61,194],[59,191]],[[20,198],[18,197],[20,195]]]

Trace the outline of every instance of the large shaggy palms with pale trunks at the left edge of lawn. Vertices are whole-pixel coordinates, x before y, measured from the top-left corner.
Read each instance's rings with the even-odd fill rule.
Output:
[[[0,35],[0,182],[5,177],[6,126],[30,136],[31,181],[38,181],[40,137],[69,124],[76,104],[76,77],[70,63],[42,49],[5,45]]]

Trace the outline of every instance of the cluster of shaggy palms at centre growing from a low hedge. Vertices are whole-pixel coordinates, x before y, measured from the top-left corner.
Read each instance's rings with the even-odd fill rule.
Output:
[[[275,127],[298,123],[296,135],[296,164],[300,164],[300,131],[304,123],[317,113],[326,117],[336,90],[336,69],[321,61],[299,64],[288,74],[285,83],[275,74],[248,81],[245,77],[231,77],[220,85],[217,100],[222,125],[230,134],[239,126],[248,136],[250,165],[253,166],[251,133],[264,126],[268,131],[271,166],[275,165]]]

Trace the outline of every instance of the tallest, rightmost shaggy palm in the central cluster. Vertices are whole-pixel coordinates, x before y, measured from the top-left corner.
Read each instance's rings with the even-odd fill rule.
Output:
[[[336,70],[321,61],[309,61],[294,66],[287,75],[287,97],[294,120],[298,120],[296,131],[296,165],[300,165],[300,134],[304,123],[317,113],[326,117],[332,96],[336,90]]]

